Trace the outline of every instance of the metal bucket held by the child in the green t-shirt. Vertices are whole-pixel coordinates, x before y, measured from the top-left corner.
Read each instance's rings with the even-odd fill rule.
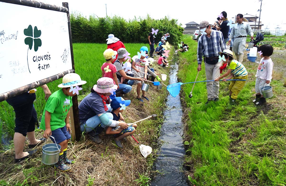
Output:
[[[55,138],[53,136],[50,136],[51,138]],[[42,162],[46,165],[52,165],[59,161],[59,152],[61,151],[61,145],[56,143],[49,143],[42,147]]]

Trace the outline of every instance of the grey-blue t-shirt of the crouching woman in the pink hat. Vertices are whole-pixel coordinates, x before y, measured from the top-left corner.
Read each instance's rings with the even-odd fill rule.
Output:
[[[84,124],[89,118],[106,113],[102,98],[97,92],[88,94],[78,106],[80,123]]]

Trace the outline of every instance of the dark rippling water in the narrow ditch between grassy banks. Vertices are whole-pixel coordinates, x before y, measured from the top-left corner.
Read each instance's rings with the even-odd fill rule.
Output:
[[[171,65],[169,84],[177,82],[178,64]],[[175,98],[171,95],[167,98],[167,108],[164,111],[165,121],[161,127],[160,140],[163,141],[154,169],[161,174],[151,182],[152,186],[188,186],[186,176],[182,173],[183,157],[185,155],[182,141],[183,124],[180,95]]]

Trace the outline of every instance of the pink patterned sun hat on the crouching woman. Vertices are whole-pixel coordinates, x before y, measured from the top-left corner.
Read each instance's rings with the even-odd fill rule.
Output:
[[[93,86],[93,90],[98,93],[114,92],[117,89],[117,85],[113,83],[113,79],[108,77],[99,78],[97,85]]]

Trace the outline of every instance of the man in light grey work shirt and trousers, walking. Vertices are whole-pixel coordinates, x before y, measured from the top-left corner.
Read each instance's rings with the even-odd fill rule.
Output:
[[[233,26],[229,35],[228,45],[231,39],[233,39],[233,52],[235,53],[236,60],[242,63],[247,35],[253,39],[253,31],[247,19],[243,18],[242,14],[237,14],[236,22],[237,24]]]

